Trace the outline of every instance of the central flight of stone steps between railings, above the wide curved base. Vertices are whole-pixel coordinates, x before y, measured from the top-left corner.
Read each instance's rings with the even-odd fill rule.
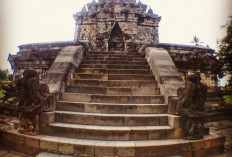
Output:
[[[167,114],[146,59],[121,51],[87,52],[61,93],[55,122],[42,130],[82,139],[86,149],[77,154],[95,156],[135,156],[135,147],[182,135],[179,117]]]

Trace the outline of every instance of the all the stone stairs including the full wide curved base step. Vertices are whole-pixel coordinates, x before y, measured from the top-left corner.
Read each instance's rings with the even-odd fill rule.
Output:
[[[56,110],[41,116],[40,135],[19,134],[7,122],[1,144],[31,156],[205,157],[224,150],[224,136],[215,133],[181,139],[180,117],[168,113],[154,73],[137,52],[86,52],[66,81]]]

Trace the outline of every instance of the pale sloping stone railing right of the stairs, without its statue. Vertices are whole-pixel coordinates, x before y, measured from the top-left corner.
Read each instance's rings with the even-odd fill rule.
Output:
[[[165,103],[168,104],[168,113],[175,115],[176,104],[172,100],[177,99],[177,90],[179,87],[184,87],[184,82],[167,50],[144,46],[144,53],[165,97]]]

